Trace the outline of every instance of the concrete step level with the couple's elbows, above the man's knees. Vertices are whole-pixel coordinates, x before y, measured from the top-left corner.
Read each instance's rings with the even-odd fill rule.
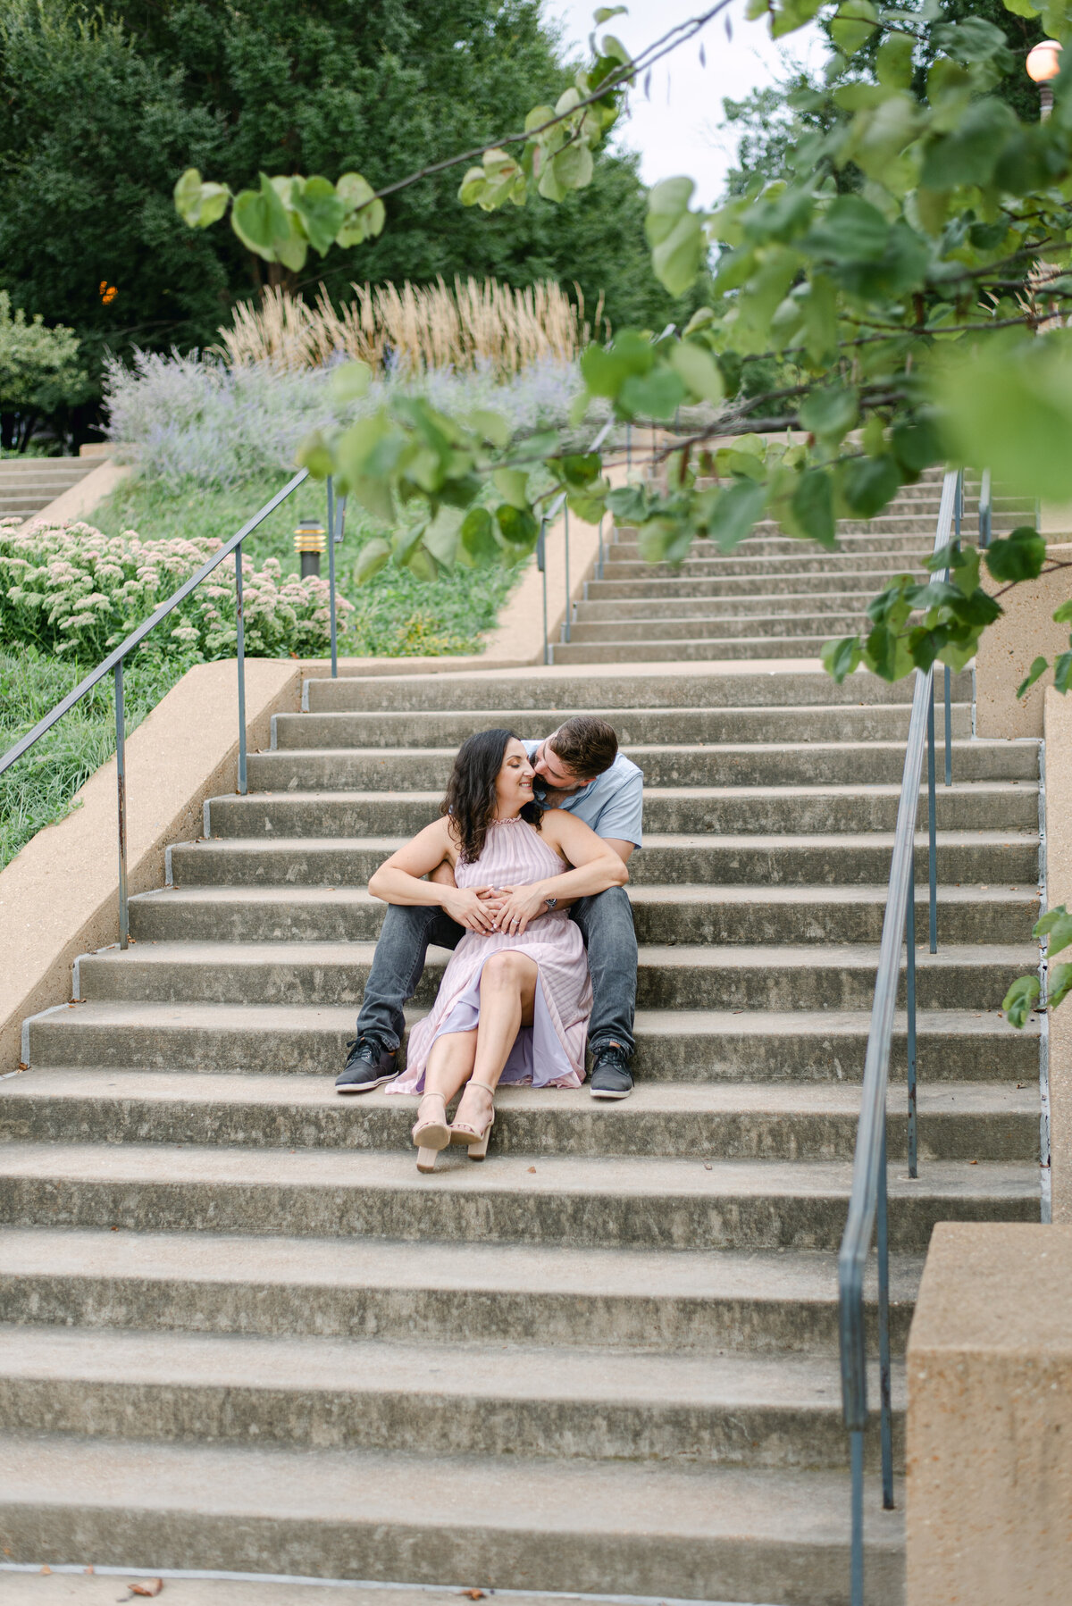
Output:
[[[362,887],[403,837],[238,838],[175,843],[177,887]],[[889,875],[892,832],[800,837],[646,837],[630,861],[632,887],[876,887]],[[1038,838],[1027,832],[942,830],[939,880],[1019,887],[1038,880]],[[916,882],[927,880],[926,834],[916,834]]]

